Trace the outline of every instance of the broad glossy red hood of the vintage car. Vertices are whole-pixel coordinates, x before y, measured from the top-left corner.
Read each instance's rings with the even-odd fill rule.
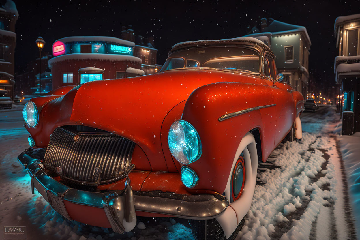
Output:
[[[109,131],[138,144],[147,155],[153,171],[167,171],[163,153],[165,145],[161,144],[161,139],[163,142],[167,139],[161,138],[162,132],[167,136],[167,131],[161,129],[167,114],[177,104],[188,99],[198,87],[233,78],[231,72],[177,70],[84,83],[65,96],[49,102],[46,109],[53,104],[57,107],[48,113],[57,114],[58,117],[52,117],[54,120],[51,121],[57,122],[51,129],[48,127],[46,134],[49,136],[55,127],[66,124]],[[250,76],[237,78],[242,79],[252,81]],[[175,115],[180,119],[183,108],[174,108],[173,111],[177,111]]]

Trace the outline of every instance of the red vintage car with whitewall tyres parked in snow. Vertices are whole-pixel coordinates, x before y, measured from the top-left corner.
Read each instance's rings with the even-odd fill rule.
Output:
[[[179,217],[196,239],[233,239],[258,161],[301,139],[303,96],[282,79],[257,39],[176,44],[157,74],[28,101],[18,160],[68,219],[122,233],[136,216]]]

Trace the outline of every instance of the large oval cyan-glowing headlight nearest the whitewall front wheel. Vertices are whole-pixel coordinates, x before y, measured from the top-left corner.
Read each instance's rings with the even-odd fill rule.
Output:
[[[184,120],[175,121],[167,137],[171,154],[180,163],[189,164],[201,156],[201,141],[195,128]]]

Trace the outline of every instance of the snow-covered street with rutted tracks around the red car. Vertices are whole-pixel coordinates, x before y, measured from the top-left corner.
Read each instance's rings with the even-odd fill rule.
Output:
[[[252,207],[236,239],[359,236],[346,175],[351,166],[343,162],[340,150],[346,142],[337,135],[339,114],[334,107],[322,107],[304,112],[301,120],[301,142],[280,144],[266,163],[259,164]],[[1,228],[26,226],[27,239],[193,239],[184,219],[142,217],[132,232],[120,235],[60,216],[39,193],[31,194],[30,177],[17,161],[28,147],[23,123],[21,111],[0,112]]]

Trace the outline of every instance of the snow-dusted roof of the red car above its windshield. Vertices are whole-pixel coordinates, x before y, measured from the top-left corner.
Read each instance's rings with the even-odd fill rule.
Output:
[[[254,45],[260,46],[264,51],[268,51],[271,54],[274,55],[273,51],[271,51],[270,47],[267,46],[264,42],[261,40],[258,40],[253,37],[236,37],[233,39],[220,39],[220,40],[198,40],[198,41],[186,41],[186,42],[179,42],[172,46],[172,49],[170,50],[170,53],[184,49],[186,47],[192,47],[192,46],[208,46],[208,45],[239,45],[243,43],[250,43]]]

